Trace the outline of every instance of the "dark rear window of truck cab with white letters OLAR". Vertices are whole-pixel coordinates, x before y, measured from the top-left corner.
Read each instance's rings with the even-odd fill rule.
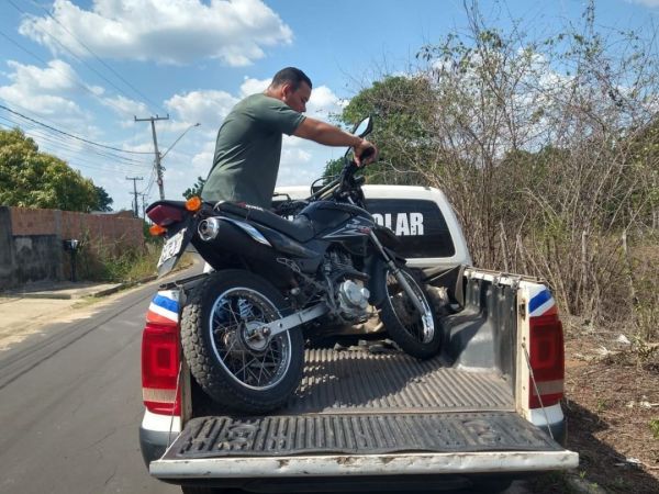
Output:
[[[367,199],[366,209],[376,222],[400,238],[398,251],[405,258],[453,257],[456,248],[444,215],[433,201]]]

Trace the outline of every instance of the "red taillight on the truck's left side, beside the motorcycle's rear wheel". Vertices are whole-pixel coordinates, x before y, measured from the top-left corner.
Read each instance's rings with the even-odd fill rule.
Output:
[[[142,396],[149,412],[180,415],[178,326],[146,323],[142,334]]]

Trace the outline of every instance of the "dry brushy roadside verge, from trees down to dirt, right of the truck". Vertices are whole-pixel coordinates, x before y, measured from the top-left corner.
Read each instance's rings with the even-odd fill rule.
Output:
[[[376,119],[368,183],[442,189],[477,266],[548,281],[582,474],[658,492],[658,33],[601,26],[595,2],[558,33],[466,9],[465,31],[380,70],[339,120]]]

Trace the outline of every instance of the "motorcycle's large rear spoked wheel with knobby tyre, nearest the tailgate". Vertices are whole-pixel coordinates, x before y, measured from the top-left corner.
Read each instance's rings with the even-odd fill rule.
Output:
[[[265,413],[295,391],[304,357],[301,330],[275,337],[259,330],[286,312],[279,292],[248,271],[217,271],[192,290],[181,319],[183,353],[216,402]]]

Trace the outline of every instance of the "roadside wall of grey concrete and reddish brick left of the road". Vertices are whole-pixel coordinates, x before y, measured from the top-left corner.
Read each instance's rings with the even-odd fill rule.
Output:
[[[142,221],[113,214],[0,206],[0,290],[70,277],[63,240],[76,238],[90,255],[144,245]]]

